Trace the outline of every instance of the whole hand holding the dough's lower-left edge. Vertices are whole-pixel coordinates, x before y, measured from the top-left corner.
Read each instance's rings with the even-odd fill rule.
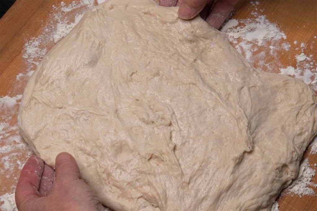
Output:
[[[16,186],[18,210],[104,210],[93,190],[80,179],[79,168],[67,152],[57,155],[54,170],[32,156]]]

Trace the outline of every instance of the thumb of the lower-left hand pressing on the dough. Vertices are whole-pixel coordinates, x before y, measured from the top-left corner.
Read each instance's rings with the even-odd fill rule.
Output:
[[[76,160],[67,152],[61,152],[55,160],[55,180],[74,181],[79,179],[80,173]]]

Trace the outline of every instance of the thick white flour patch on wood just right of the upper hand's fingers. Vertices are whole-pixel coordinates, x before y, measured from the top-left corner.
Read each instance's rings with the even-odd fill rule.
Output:
[[[221,31],[250,63],[256,62],[262,69],[274,71],[279,69],[276,68],[280,65],[279,59],[268,59],[267,55],[278,57],[281,50],[289,51],[290,44],[285,41],[286,34],[260,13],[251,13],[255,18],[229,20]]]

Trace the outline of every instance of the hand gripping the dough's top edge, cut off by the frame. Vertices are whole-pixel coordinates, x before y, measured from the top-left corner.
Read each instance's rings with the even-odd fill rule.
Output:
[[[229,17],[237,2],[238,0],[159,0],[159,5],[179,6],[178,16],[185,20],[200,13],[210,26],[218,29]]]

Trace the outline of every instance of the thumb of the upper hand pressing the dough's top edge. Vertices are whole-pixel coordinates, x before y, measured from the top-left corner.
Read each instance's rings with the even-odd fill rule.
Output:
[[[188,20],[191,19],[204,9],[207,0],[185,0],[178,9],[178,17]]]

